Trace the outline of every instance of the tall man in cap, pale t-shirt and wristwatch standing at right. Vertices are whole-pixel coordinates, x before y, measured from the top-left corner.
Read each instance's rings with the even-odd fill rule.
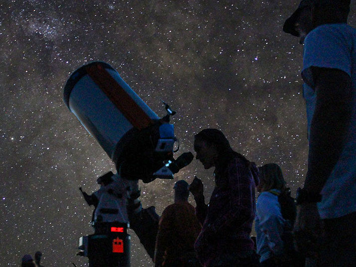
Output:
[[[305,38],[309,155],[295,238],[306,253],[321,239],[323,267],[356,265],[356,29],[347,25],[349,11],[350,0],[303,0],[283,27]]]

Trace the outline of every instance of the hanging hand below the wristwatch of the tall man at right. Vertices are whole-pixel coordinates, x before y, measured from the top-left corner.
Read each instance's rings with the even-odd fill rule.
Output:
[[[316,203],[297,206],[297,218],[294,225],[296,250],[308,257],[317,257],[319,240],[322,235],[322,222]]]

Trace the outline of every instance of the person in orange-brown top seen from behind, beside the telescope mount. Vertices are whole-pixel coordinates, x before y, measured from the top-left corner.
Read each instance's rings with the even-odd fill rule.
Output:
[[[195,216],[194,207],[188,203],[188,183],[175,183],[175,203],[162,213],[156,239],[156,267],[196,267],[194,242],[201,225]]]

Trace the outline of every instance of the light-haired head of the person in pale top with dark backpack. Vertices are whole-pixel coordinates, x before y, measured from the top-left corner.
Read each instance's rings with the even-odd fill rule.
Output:
[[[265,192],[271,189],[284,191],[286,182],[278,164],[269,163],[258,168],[260,184],[257,186],[258,192]]]

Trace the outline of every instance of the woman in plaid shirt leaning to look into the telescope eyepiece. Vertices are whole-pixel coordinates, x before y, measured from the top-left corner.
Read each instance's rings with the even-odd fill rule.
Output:
[[[189,186],[195,212],[203,225],[194,248],[204,267],[258,266],[250,238],[255,217],[258,169],[235,152],[217,129],[203,129],[194,136],[196,159],[204,169],[215,167],[215,187],[205,204],[203,184],[194,178]]]

